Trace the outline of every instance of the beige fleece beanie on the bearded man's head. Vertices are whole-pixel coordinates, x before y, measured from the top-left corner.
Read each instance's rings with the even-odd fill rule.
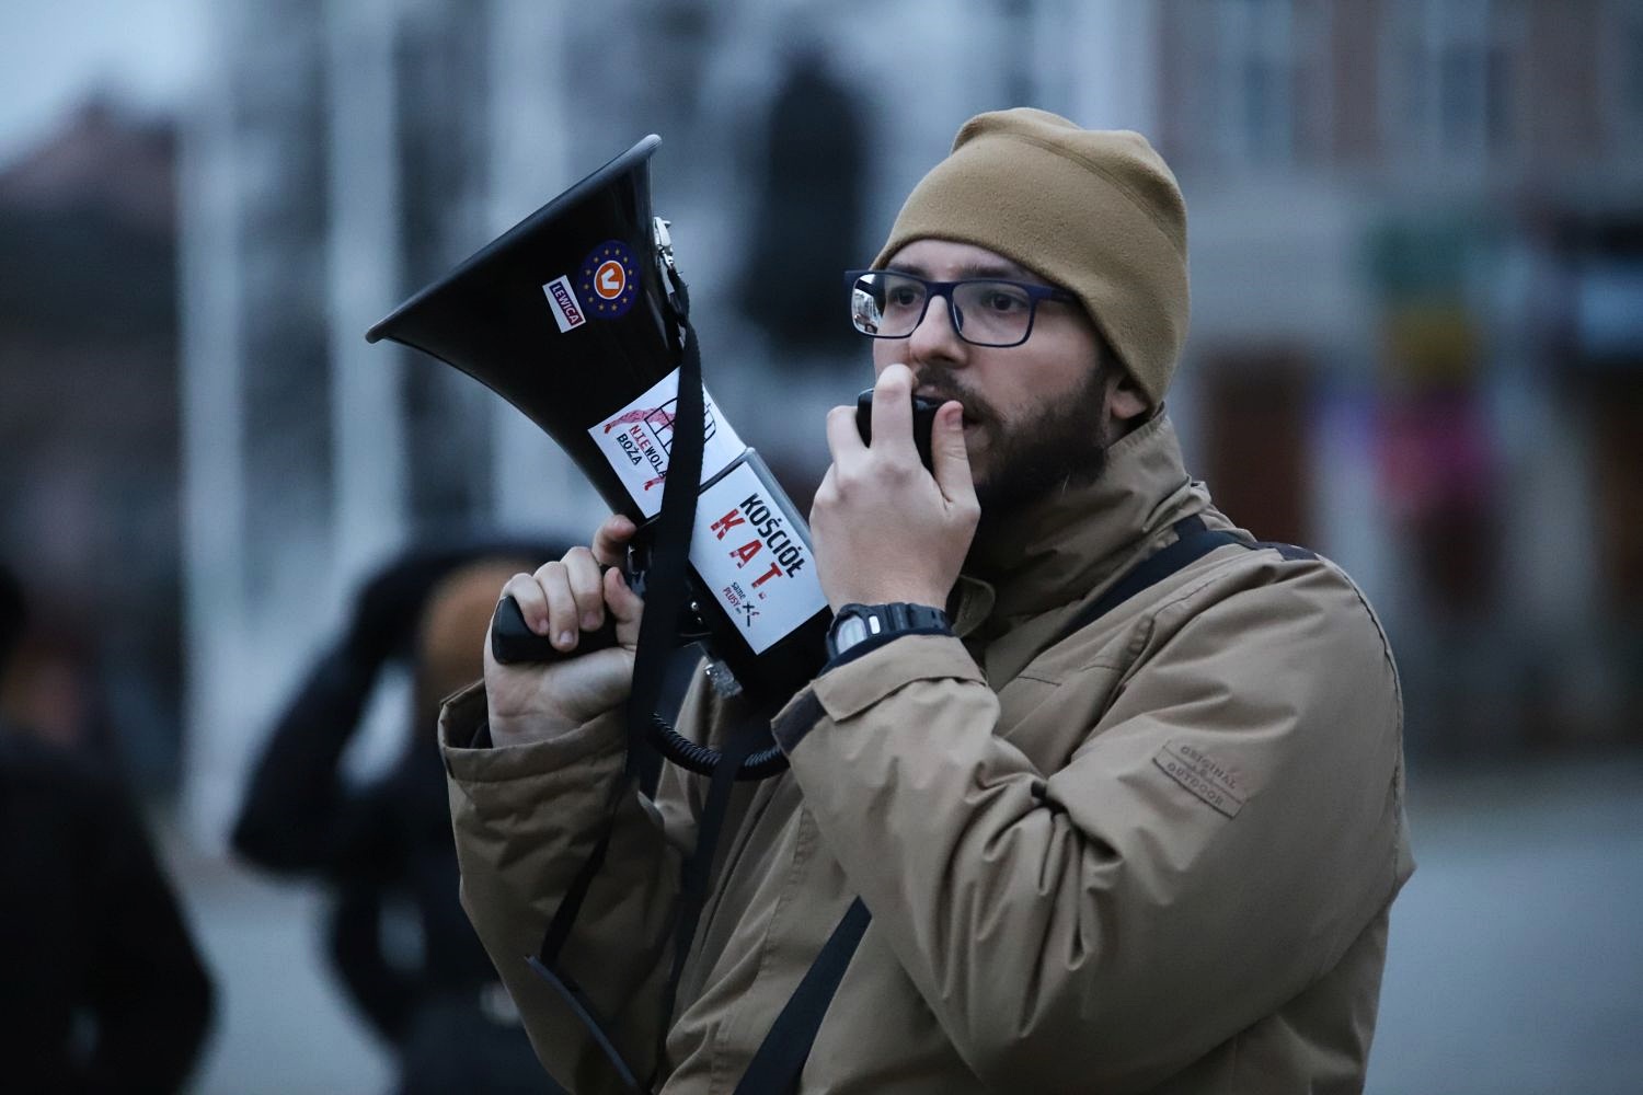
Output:
[[[874,268],[914,240],[997,251],[1076,294],[1153,405],[1186,341],[1186,205],[1139,133],[976,115],[914,187]]]

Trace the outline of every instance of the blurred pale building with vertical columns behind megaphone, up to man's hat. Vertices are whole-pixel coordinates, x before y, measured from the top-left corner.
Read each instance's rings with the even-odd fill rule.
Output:
[[[738,289],[738,276],[754,251],[761,166],[780,143],[767,125],[774,89],[823,71],[853,92],[838,102],[866,107],[836,126],[869,140],[871,184],[849,197],[864,205],[851,245],[864,261],[958,123],[1030,94],[1047,72],[1033,51],[1055,41],[1056,20],[1135,21],[1121,0],[237,0],[215,11],[215,74],[182,149],[187,785],[209,842],[273,703],[373,561],[412,537],[473,529],[580,534],[603,512],[522,415],[447,366],[366,345],[373,322],[659,131],[656,212],[674,222],[697,287],[710,387],[807,497],[826,463],[825,407],[871,373],[864,350],[789,368],[813,353],[748,318],[759,279]],[[1056,87],[1129,97],[1111,80],[1129,71],[1122,38],[1089,38],[1101,46],[1086,56],[1109,62],[1086,69],[1060,46]],[[907,39],[923,43],[917,57]],[[782,213],[795,240],[823,220],[797,202]]]

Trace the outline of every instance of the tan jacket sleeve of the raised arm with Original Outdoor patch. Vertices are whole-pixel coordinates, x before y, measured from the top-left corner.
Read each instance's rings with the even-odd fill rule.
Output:
[[[996,735],[958,639],[889,644],[779,716],[822,839],[983,1080],[1152,1087],[1329,970],[1395,893],[1390,653],[1337,571],[1283,573],[1158,609],[1056,772]]]

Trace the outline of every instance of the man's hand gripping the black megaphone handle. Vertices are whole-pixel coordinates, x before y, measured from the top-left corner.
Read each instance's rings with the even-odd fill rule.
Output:
[[[619,563],[634,532],[626,517],[606,517],[591,547],[570,548],[565,558],[503,586],[501,596],[519,602],[526,625],[560,652],[575,650],[580,632],[600,627],[606,612],[616,619],[616,645],[550,663],[501,665],[486,635],[491,744],[544,740],[628,699],[644,601],[628,588]]]

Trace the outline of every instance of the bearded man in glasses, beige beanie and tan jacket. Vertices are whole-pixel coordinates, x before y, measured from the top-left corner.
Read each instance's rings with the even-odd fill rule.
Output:
[[[700,780],[618,804],[565,974],[636,1075],[729,1092],[859,895],[871,924],[798,1090],[1357,1090],[1413,868],[1397,673],[1334,565],[1255,545],[1181,466],[1173,176],[1134,133],[981,115],[874,268],[853,299],[872,443],[830,415],[815,555],[841,616],[922,607],[854,645],[835,629],[777,716],[792,768],[731,801],[660,1059]],[[932,473],[915,391],[945,401]],[[488,663],[442,731],[467,908],[577,1092],[613,1069],[522,955],[623,763],[641,604],[600,565],[631,535],[611,519],[506,586],[560,648],[606,612],[621,645]],[[736,714],[703,686],[683,729]]]

